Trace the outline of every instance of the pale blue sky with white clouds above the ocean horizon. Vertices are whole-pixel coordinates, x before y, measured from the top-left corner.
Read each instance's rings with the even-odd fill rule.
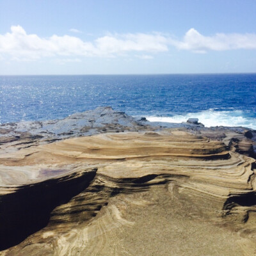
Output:
[[[0,75],[256,72],[255,0],[0,0]]]

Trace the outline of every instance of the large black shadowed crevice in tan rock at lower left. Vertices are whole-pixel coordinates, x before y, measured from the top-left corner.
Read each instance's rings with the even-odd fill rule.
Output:
[[[0,250],[19,244],[44,228],[52,210],[81,193],[94,179],[97,169],[68,173],[65,176],[16,188],[0,197]]]

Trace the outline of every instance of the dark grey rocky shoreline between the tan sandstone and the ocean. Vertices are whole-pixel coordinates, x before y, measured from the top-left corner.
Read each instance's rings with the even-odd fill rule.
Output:
[[[8,150],[79,136],[92,136],[106,132],[164,131],[166,129],[201,134],[212,140],[224,140],[227,145],[235,144],[239,152],[244,152],[248,156],[255,157],[256,154],[256,131],[253,129],[204,127],[204,124],[198,123],[197,118],[191,118],[184,123],[148,122],[146,118],[134,118],[124,112],[115,111],[111,107],[99,107],[83,113],[75,113],[61,120],[0,124],[0,154]]]

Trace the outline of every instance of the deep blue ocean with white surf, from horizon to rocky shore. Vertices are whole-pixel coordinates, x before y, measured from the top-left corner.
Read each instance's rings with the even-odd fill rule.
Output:
[[[256,129],[256,74],[0,76],[0,123],[111,106],[148,120]]]

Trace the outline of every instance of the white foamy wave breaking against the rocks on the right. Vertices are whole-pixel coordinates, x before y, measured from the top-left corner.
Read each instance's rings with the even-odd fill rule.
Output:
[[[174,116],[146,116],[150,122],[168,122],[181,123],[186,122],[188,118],[198,118],[198,122],[206,127],[211,126],[243,126],[256,129],[256,118],[248,116],[244,111],[216,111],[208,109],[198,113],[186,113],[184,115]]]

